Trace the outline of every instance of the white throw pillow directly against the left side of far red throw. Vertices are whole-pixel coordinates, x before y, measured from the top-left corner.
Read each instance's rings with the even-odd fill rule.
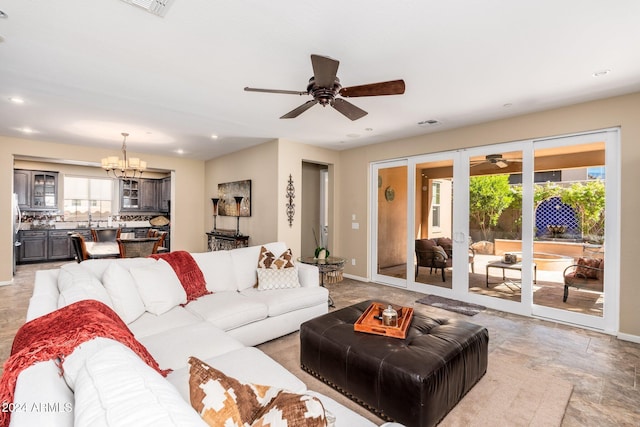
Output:
[[[149,313],[159,316],[187,302],[187,293],[167,262],[160,260],[149,266],[131,267],[129,272]]]

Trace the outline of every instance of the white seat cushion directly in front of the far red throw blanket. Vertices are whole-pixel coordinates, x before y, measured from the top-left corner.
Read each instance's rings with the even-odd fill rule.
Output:
[[[205,295],[185,308],[225,331],[262,320],[268,314],[265,304],[238,292]]]

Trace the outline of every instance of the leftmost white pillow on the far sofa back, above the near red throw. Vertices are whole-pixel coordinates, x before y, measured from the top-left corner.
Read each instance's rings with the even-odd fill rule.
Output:
[[[111,298],[100,280],[80,264],[66,264],[58,273],[58,308],[83,300],[97,300],[113,308]]]

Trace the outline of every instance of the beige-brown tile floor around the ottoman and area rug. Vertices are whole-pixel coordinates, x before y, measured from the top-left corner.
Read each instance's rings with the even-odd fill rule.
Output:
[[[9,356],[13,336],[24,323],[35,271],[58,265],[18,266],[14,284],[0,286],[0,360]],[[563,426],[640,425],[640,344],[489,309],[467,317],[415,304],[422,296],[416,292],[351,279],[328,288],[338,308],[364,299],[382,299],[413,306],[423,314],[460,317],[486,326],[490,355],[519,357],[523,366],[551,371],[573,384]]]

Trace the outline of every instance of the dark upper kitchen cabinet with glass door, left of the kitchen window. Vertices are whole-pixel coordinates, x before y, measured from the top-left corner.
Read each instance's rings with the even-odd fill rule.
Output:
[[[58,172],[15,169],[13,187],[22,210],[58,209]]]

